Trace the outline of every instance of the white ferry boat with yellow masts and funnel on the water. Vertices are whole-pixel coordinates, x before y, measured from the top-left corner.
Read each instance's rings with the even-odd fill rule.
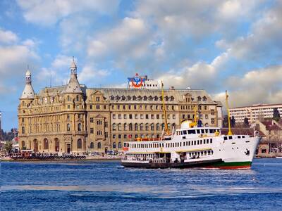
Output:
[[[226,92],[226,102],[227,98]],[[125,142],[125,155],[121,165],[145,168],[250,169],[261,139],[259,132],[255,131],[253,136],[233,135],[230,118],[228,119],[228,135],[222,135],[219,127],[198,127],[195,115],[194,121],[185,120],[180,124],[180,129],[171,134],[163,131],[159,139]],[[165,129],[167,130],[166,124]]]

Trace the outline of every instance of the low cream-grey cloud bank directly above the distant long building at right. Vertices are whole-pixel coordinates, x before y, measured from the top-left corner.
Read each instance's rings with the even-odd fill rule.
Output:
[[[229,77],[226,89],[231,107],[250,106],[255,103],[281,103],[282,65],[250,70],[243,77]],[[214,95],[224,101],[225,93]]]

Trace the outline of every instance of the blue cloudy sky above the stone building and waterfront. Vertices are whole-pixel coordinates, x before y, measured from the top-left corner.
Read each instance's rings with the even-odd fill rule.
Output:
[[[17,127],[27,65],[35,92],[124,87],[135,72],[230,106],[282,103],[282,1],[1,0],[2,128]]]

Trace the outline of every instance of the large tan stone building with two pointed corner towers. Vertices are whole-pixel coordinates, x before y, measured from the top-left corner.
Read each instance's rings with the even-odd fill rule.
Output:
[[[164,89],[168,128],[194,117],[202,124],[221,122],[221,103],[204,90]],[[123,141],[159,137],[164,127],[161,89],[87,88],[79,84],[71,64],[67,85],[48,87],[35,94],[30,71],[18,106],[20,148],[39,152],[85,153],[122,151]]]

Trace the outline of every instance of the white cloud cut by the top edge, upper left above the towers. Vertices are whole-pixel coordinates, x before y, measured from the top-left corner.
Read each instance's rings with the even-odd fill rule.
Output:
[[[24,11],[25,20],[39,25],[54,25],[62,18],[75,13],[113,13],[119,5],[116,0],[18,0]],[[93,13],[92,13],[93,15]]]

